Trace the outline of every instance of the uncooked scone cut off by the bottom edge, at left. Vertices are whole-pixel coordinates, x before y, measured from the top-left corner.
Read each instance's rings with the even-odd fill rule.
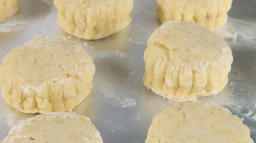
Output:
[[[102,143],[90,119],[74,112],[37,115],[15,125],[2,143]]]

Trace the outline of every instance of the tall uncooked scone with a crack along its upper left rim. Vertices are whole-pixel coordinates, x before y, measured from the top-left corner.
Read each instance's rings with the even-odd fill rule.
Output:
[[[144,52],[144,85],[173,101],[219,93],[233,56],[225,41],[193,22],[168,21],[150,36]]]

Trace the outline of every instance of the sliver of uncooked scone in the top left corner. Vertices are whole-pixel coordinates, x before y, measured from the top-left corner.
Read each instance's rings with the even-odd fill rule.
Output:
[[[19,10],[18,0],[0,0],[0,21],[10,17]]]

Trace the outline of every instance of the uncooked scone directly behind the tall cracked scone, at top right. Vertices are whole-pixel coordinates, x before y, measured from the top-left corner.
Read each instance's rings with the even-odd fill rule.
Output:
[[[193,21],[211,30],[227,20],[232,0],[158,0],[157,16],[162,23],[170,20]]]

